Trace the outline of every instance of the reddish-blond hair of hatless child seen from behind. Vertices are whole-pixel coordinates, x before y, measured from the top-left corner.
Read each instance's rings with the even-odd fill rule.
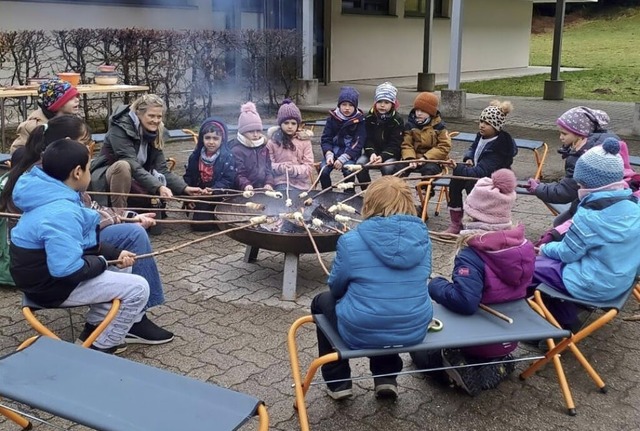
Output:
[[[396,214],[416,215],[413,195],[406,181],[398,177],[378,178],[367,188],[362,204],[362,217],[389,217]]]

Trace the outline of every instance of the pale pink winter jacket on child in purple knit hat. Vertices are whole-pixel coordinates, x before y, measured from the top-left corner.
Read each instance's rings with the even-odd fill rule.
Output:
[[[275,130],[273,130],[275,129]],[[311,187],[311,174],[313,172],[313,149],[310,130],[299,130],[292,138],[293,150],[287,150],[282,146],[282,129],[272,127],[267,132],[270,136],[267,142],[269,157],[271,157],[271,169],[273,170],[274,185],[287,184],[285,170],[289,172],[289,185],[300,190]]]

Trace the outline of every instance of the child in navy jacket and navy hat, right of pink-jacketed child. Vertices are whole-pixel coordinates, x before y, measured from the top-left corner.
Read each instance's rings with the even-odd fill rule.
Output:
[[[338,96],[338,107],[329,112],[327,124],[322,131],[320,145],[324,160],[320,185],[323,189],[331,187],[331,171],[342,170],[342,175],[351,172],[344,169],[351,165],[362,154],[362,146],[366,139],[364,115],[358,109],[358,90],[353,87],[342,87]]]

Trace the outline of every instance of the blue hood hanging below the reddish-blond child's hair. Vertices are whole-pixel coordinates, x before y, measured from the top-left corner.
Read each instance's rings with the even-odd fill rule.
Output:
[[[426,225],[415,216],[372,217],[357,231],[371,253],[390,268],[415,267],[431,247]]]

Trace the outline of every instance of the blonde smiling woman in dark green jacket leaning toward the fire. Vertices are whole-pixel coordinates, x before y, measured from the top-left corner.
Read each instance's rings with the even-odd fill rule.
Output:
[[[126,208],[123,194],[141,193],[161,198],[177,195],[199,195],[204,191],[190,187],[169,172],[163,152],[164,101],[146,94],[130,106],[121,106],[109,119],[109,131],[100,155],[91,163],[91,188],[110,191],[111,205]],[[120,193],[121,195],[118,195]],[[97,199],[107,204],[107,197]]]

